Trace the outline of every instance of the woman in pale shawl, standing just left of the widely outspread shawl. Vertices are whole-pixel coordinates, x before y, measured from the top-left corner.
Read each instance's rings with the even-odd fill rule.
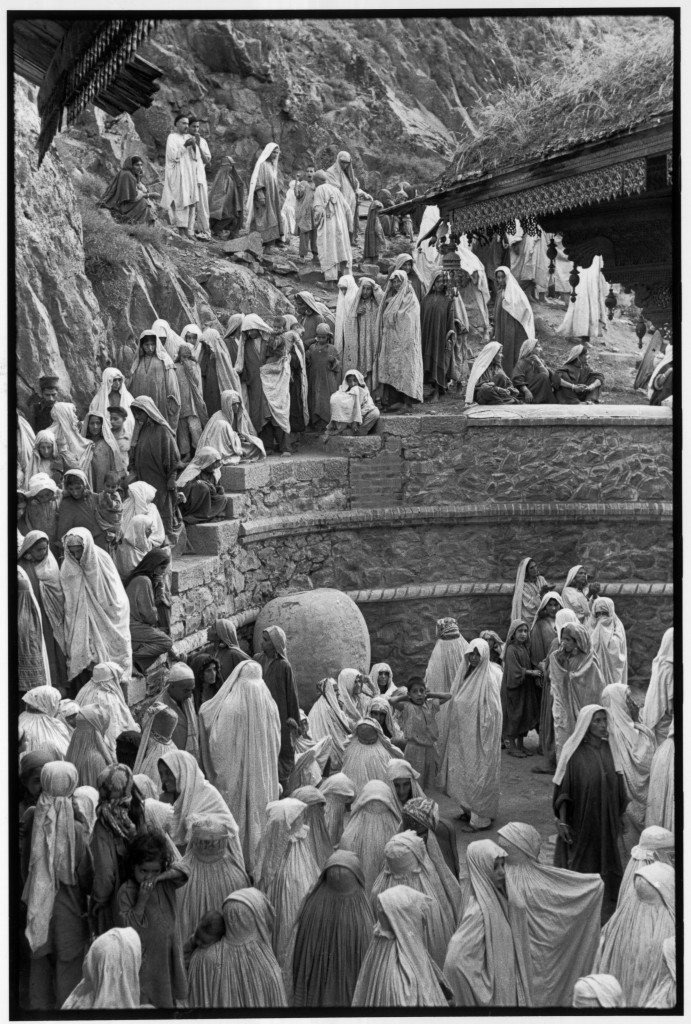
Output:
[[[444,963],[455,1005],[531,1007],[525,904],[506,886],[506,850],[480,840],[469,844],[467,858],[472,897]]]

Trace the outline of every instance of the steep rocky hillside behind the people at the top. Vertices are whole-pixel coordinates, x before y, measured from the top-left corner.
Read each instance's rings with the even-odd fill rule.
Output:
[[[181,111],[206,119],[212,153],[246,180],[275,139],[284,180],[351,152],[371,190],[427,184],[483,103],[598,32],[597,18],[285,18],[166,20],[142,52],[164,71],[155,104],[132,120],[89,108],[59,134],[40,170],[36,91],[16,81],[16,345],[24,404],[41,373],[84,412],[101,370],[128,369],[140,332],[162,316],[180,330],[230,311],[290,308],[297,279],[230,262],[219,245],[166,227],[121,227],[97,200],[122,161],[145,157],[161,180],[166,136]],[[212,165],[213,173],[213,165]],[[257,272],[255,272],[257,271]],[[308,286],[309,287],[309,286]]]

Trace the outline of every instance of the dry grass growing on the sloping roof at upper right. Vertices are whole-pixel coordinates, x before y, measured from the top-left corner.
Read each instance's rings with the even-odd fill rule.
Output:
[[[443,182],[544,160],[671,111],[673,23],[627,20],[625,33],[577,40],[528,84],[510,86],[474,111],[479,134],[464,141]]]

